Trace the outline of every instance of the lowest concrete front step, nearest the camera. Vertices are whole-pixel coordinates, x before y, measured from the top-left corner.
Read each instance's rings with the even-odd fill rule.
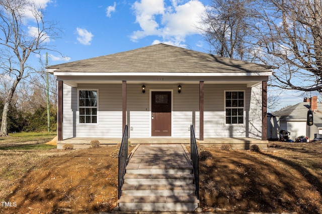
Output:
[[[127,196],[119,199],[120,211],[194,211],[199,200],[196,196]]]

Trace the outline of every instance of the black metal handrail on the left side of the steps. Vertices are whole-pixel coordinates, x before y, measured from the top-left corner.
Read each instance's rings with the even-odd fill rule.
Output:
[[[127,125],[124,128],[122,142],[119,151],[119,185],[118,185],[118,199],[121,197],[122,186],[124,182],[125,168],[128,163],[128,134]]]

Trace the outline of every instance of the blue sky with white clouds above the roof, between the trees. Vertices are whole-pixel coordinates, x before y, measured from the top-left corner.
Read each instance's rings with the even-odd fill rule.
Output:
[[[57,21],[61,38],[50,40],[58,53],[49,65],[166,43],[207,52],[197,27],[210,0],[85,1],[38,0],[45,19]]]

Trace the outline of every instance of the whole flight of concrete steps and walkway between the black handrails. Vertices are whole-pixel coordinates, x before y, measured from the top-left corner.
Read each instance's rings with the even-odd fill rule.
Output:
[[[193,212],[193,167],[183,145],[144,145],[132,155],[124,176],[120,211]]]

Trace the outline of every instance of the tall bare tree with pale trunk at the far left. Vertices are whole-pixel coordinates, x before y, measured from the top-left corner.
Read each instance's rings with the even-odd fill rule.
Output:
[[[28,26],[28,19],[34,26]],[[0,136],[8,136],[8,111],[19,82],[35,72],[29,58],[48,50],[59,29],[45,22],[43,10],[30,0],[0,0],[0,74],[12,78],[6,92]]]

